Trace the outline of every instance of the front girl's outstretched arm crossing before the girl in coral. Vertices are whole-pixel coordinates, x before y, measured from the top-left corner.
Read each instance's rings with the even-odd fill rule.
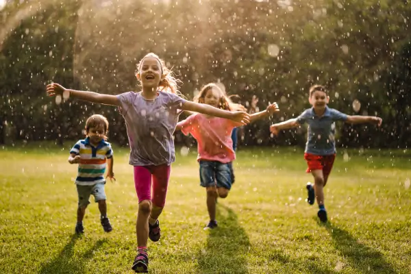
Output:
[[[195,103],[191,101],[186,101],[186,103],[182,105],[181,109],[230,119],[232,121],[241,123],[242,125],[246,125],[250,121],[250,115],[247,112],[229,112],[227,110],[220,110],[219,108],[214,108],[211,105],[207,105],[205,103]]]

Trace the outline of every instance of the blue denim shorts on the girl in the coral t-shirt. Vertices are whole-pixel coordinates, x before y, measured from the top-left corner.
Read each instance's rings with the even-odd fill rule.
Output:
[[[219,161],[200,161],[200,185],[203,187],[216,186],[217,188],[232,187],[231,162],[223,164]]]

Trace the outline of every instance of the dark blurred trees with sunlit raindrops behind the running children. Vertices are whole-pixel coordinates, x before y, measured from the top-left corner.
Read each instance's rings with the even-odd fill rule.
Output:
[[[333,108],[384,119],[382,129],[339,127],[338,146],[410,145],[406,2],[44,0],[0,6],[1,142],[62,142],[77,136],[84,117],[101,112],[115,121],[114,142],[127,145],[116,110],[56,104],[44,87],[54,81],[112,94],[138,90],[135,65],[153,51],[173,67],[188,99],[203,84],[218,82],[244,105],[253,95],[259,108],[277,101],[283,121],[308,107],[310,85],[325,84]],[[305,142],[301,129],[267,138],[267,125],[247,127],[243,142]]]

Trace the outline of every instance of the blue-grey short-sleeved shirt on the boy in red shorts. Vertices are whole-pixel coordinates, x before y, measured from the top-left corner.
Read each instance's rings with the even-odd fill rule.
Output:
[[[308,123],[306,153],[314,155],[336,153],[335,121],[347,121],[347,114],[325,107],[325,112],[321,117],[315,114],[314,108],[305,110],[297,117],[297,122],[300,125]]]

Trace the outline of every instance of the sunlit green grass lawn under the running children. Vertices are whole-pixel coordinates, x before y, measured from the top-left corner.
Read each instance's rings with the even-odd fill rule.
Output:
[[[0,147],[0,273],[132,273],[138,201],[128,150],[114,150],[117,181],[106,184],[113,232],[92,202],[77,237],[69,148]],[[212,231],[203,230],[196,153],[176,154],[150,273],[411,273],[411,151],[340,149],[321,225],[305,201],[312,177],[301,150],[240,150]]]

